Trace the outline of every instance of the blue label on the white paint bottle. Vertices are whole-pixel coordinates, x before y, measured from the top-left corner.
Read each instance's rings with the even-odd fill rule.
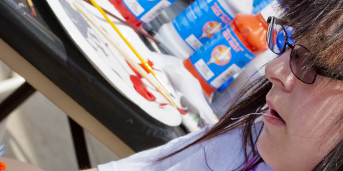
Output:
[[[233,16],[234,14],[226,12],[217,0],[198,0],[172,22],[181,38],[196,50],[228,25]]]

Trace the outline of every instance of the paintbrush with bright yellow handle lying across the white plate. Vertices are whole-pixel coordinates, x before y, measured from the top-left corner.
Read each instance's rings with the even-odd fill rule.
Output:
[[[132,47],[132,45],[130,44],[130,42],[128,42],[128,40],[126,40],[126,38],[123,36],[123,34],[121,34],[121,32],[119,31],[119,29],[117,28],[117,26],[115,26],[115,23],[113,23],[112,21],[110,21],[110,18],[108,18],[108,16],[106,15],[106,13],[104,12],[104,10],[102,10],[101,7],[99,7],[99,5],[97,5],[97,3],[95,3],[94,0],[90,0],[91,3],[95,6],[95,8],[97,8],[97,10],[99,10],[99,12],[102,13],[102,15],[106,18],[106,21],[108,23],[110,23],[110,25],[112,25],[113,29],[115,29],[115,31],[117,31],[117,34],[119,34],[119,36],[124,40],[124,42],[126,42],[126,44],[128,44],[128,47],[130,47],[130,49],[133,51],[133,53],[139,58],[139,60],[141,60],[143,66],[149,70],[150,73],[152,73],[152,75],[154,75],[154,77],[157,79],[157,81],[159,83],[161,83],[161,85],[163,86],[163,88],[165,88],[165,90],[167,90],[167,92],[169,93],[170,96],[172,96],[170,90],[167,88],[167,86],[165,86],[165,84],[161,81],[161,79],[154,73],[154,70],[152,70],[152,67],[147,64],[147,62],[145,62],[145,60],[143,59],[143,57],[141,57],[141,55],[139,55],[139,53],[136,51],[136,49],[134,49],[134,47]]]

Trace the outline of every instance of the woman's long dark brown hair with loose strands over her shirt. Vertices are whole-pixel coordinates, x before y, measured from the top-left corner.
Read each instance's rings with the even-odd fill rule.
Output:
[[[295,41],[306,42],[305,46],[311,51],[311,66],[321,68],[336,75],[343,75],[343,1],[342,0],[281,0],[279,9],[283,10],[280,18],[284,25],[293,28],[291,38]],[[343,82],[343,81],[342,81]],[[232,120],[246,114],[268,110],[265,96],[272,87],[272,83],[263,76],[246,84],[228,105],[226,115],[214,127],[207,130],[202,137],[193,143],[176,150],[158,161],[163,161],[180,151],[199,144],[213,137],[222,135],[237,127],[243,128],[242,149],[247,163],[249,156],[257,156],[253,168],[263,162],[256,149],[248,152],[248,146],[255,146],[257,138],[253,138],[255,119],[259,116],[250,115],[241,120]],[[258,137],[258,136],[257,136]],[[244,165],[241,163],[241,166]],[[241,166],[237,166],[238,170]],[[343,170],[343,138],[314,170]]]

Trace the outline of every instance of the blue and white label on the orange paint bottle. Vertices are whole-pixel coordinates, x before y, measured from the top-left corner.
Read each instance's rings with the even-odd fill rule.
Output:
[[[217,89],[238,75],[241,68],[254,58],[255,55],[244,47],[230,25],[226,25],[211,41],[195,51],[189,60],[202,78]]]

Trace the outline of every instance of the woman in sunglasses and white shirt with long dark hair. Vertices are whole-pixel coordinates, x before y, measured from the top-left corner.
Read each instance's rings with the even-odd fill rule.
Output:
[[[268,44],[281,55],[220,122],[99,170],[343,170],[343,1],[280,3]]]

